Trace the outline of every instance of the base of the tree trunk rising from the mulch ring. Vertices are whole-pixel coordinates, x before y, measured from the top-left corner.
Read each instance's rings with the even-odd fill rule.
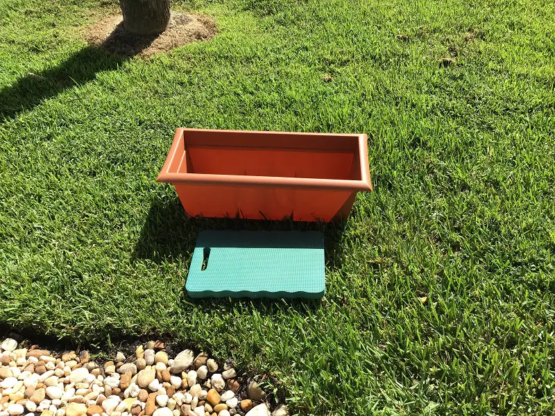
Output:
[[[123,28],[133,35],[153,35],[166,30],[169,0],[119,0]]]

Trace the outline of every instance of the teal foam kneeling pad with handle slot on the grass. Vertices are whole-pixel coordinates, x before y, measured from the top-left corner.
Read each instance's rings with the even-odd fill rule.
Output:
[[[325,293],[318,231],[203,231],[185,284],[189,297],[307,297]]]

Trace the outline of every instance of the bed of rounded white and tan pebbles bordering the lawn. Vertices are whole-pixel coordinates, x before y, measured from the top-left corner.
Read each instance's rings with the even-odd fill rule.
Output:
[[[271,413],[255,382],[241,392],[234,365],[220,368],[204,352],[185,349],[172,359],[163,343],[149,341],[104,363],[86,350],[58,355],[3,340],[0,416],[289,415],[283,404]]]

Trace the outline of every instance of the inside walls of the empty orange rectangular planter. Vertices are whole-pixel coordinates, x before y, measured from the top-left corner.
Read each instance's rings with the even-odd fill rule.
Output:
[[[185,133],[178,173],[360,180],[357,138]]]

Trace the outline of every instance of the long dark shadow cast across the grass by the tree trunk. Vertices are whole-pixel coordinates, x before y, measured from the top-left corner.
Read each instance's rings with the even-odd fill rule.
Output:
[[[121,32],[120,24],[99,46],[86,46],[57,67],[44,69],[40,73],[27,73],[10,87],[2,89],[0,122],[13,119],[24,110],[32,110],[42,101],[65,89],[94,80],[99,72],[118,69],[123,62],[146,49],[157,37],[122,36]],[[111,52],[114,50],[127,52]]]

